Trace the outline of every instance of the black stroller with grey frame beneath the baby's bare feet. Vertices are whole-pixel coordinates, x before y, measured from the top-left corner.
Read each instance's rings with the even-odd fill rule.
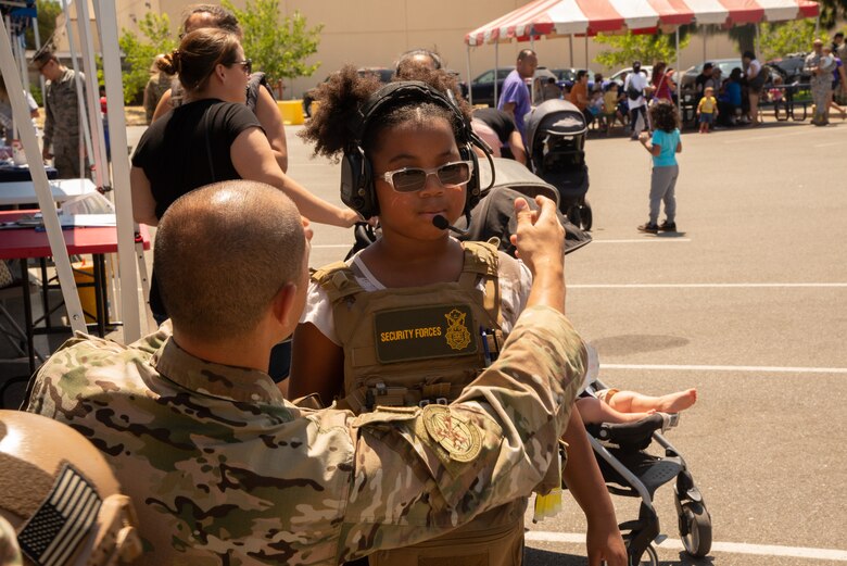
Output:
[[[589,385],[584,394],[593,395],[607,386],[597,376],[599,362],[596,351],[590,345],[587,350]],[[660,542],[663,538],[653,496],[658,488],[674,479],[678,527],[685,552],[703,557],[711,549],[711,516],[685,461],[662,435],[666,425],[659,413],[636,423],[586,425],[589,441],[609,492],[641,499],[639,518],[619,525],[627,543],[629,564],[633,566],[659,564],[653,542]],[[662,456],[646,452],[653,441],[663,450]]]

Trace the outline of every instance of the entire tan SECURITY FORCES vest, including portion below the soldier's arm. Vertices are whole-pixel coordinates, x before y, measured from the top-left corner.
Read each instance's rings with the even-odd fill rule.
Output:
[[[517,280],[518,263],[490,243],[464,246],[462,275],[454,282],[365,291],[355,264],[338,262],[313,274],[329,295],[344,347],[340,408],[362,413],[377,405],[446,404],[496,359],[503,345],[497,273]],[[519,566],[524,511],[521,498],[442,537],[377,552],[369,562]]]

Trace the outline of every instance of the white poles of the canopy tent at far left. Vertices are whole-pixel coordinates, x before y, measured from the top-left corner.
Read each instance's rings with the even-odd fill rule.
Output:
[[[72,50],[74,49],[73,26],[69,17],[69,5],[67,0],[62,0],[65,12],[65,22],[67,23],[68,39],[71,39]],[[0,0],[0,7],[3,9],[3,25],[0,26],[0,68],[2,68],[3,79],[12,104],[15,123],[18,126],[18,135],[23,142],[24,151],[29,155],[30,164],[39,163],[41,150],[38,146],[35,128],[31,126],[29,109],[24,98],[24,84],[22,77],[26,76],[27,62],[23,59],[23,50],[17,50],[17,58],[13,52],[13,45],[20,42],[20,36],[25,29],[25,24],[16,21],[15,9],[26,9],[25,13],[18,12],[17,16],[22,18],[29,17],[35,22],[35,1]],[[93,42],[89,28],[89,13],[86,1],[75,2],[74,7],[78,10],[78,34],[83,50],[83,71],[86,75],[86,100],[80,101],[81,124],[86,127],[86,146],[88,154],[93,155],[93,172],[96,183],[99,188],[106,191],[114,188],[114,204],[117,221],[118,237],[118,265],[116,287],[125,289],[127,292],[119,294],[119,313],[123,320],[124,340],[131,342],[141,336],[141,316],[138,303],[138,272],[136,263],[136,224],[132,221],[132,204],[129,191],[129,159],[127,155],[126,120],[124,116],[124,95],[122,86],[121,56],[117,43],[117,17],[115,3],[113,0],[93,0],[96,22],[100,35],[100,45],[102,46],[103,74],[105,77],[106,98],[110,101],[109,129],[110,144],[112,150],[112,177],[110,178],[110,168],[105,160],[105,144],[103,137],[103,125],[100,121],[99,92],[97,84],[97,68],[94,66]],[[76,56],[72,56],[74,66],[76,66]],[[81,92],[81,89],[80,89]],[[88,141],[89,133],[93,136],[93,143]],[[35,186],[38,205],[43,215],[43,223],[47,230],[53,261],[55,263],[56,274],[62,288],[65,306],[67,309],[68,320],[74,330],[85,331],[85,317],[83,307],[77,294],[76,284],[74,282],[71,269],[71,260],[62,237],[62,228],[59,223],[55,204],[48,185],[47,174],[43,167],[31,166],[30,175]],[[26,276],[26,274],[24,274]]]

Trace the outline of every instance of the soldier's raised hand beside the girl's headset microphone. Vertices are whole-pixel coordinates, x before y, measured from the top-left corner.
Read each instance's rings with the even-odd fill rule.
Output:
[[[545,197],[535,197],[539,210],[530,210],[526,199],[515,199],[518,229],[510,238],[518,249],[518,257],[533,276],[542,266],[562,268],[565,228],[556,216],[556,203]]]

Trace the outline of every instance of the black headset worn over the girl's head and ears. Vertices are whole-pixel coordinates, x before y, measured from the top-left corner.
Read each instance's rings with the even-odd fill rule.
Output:
[[[455,115],[460,124],[456,137],[459,155],[463,161],[473,162],[473,172],[465,192],[464,213],[470,214],[470,210],[479,202],[479,160],[473,152],[473,146],[485,150],[485,144],[473,134],[470,124],[459,110],[453,97],[453,91],[445,95],[440,90],[418,80],[403,80],[390,83],[375,92],[365,105],[351,120],[347,128],[353,134],[353,140],[344,150],[341,160],[341,200],[358,212],[365,218],[379,214],[377,191],[374,187],[374,169],[370,161],[362,148],[362,138],[370,126],[375,116],[383,115],[388,109],[402,106],[409,103],[432,102],[446,108]]]

